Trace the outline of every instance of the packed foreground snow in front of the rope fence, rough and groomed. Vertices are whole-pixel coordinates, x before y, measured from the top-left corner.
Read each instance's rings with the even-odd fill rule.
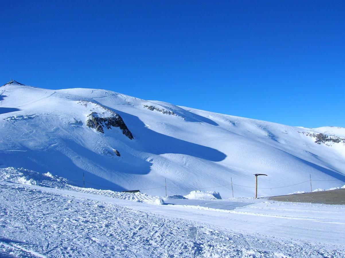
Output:
[[[219,207],[234,203],[217,209],[169,204],[202,200],[140,196],[1,169],[0,257],[345,256],[345,206],[210,200]]]

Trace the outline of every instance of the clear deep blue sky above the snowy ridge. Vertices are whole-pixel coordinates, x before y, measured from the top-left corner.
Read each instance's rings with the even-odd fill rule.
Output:
[[[345,1],[1,1],[0,85],[345,127]],[[1,83],[2,82],[2,83]]]

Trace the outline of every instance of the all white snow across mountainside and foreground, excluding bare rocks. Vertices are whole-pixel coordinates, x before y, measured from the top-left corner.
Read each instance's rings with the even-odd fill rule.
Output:
[[[118,113],[134,139],[90,129],[91,112]],[[345,137],[107,90],[2,86],[0,257],[345,257],[345,206],[253,198],[255,173],[268,175],[258,196],[345,188],[345,142],[311,133]]]

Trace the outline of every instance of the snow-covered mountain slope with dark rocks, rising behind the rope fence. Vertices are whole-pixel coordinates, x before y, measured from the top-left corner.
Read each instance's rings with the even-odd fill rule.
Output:
[[[345,128],[285,126],[101,89],[0,87],[0,167],[50,171],[79,186],[84,173],[86,187],[165,195],[166,178],[168,195],[205,188],[226,198],[232,178],[235,197],[248,197],[253,174],[264,173],[258,195],[269,196],[310,190],[309,174],[313,189],[342,186],[344,160]]]

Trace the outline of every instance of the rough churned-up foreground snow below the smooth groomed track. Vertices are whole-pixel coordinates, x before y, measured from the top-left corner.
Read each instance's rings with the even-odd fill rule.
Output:
[[[337,245],[224,230],[126,202],[148,210],[160,205],[6,182],[0,189],[1,257],[345,256]]]

